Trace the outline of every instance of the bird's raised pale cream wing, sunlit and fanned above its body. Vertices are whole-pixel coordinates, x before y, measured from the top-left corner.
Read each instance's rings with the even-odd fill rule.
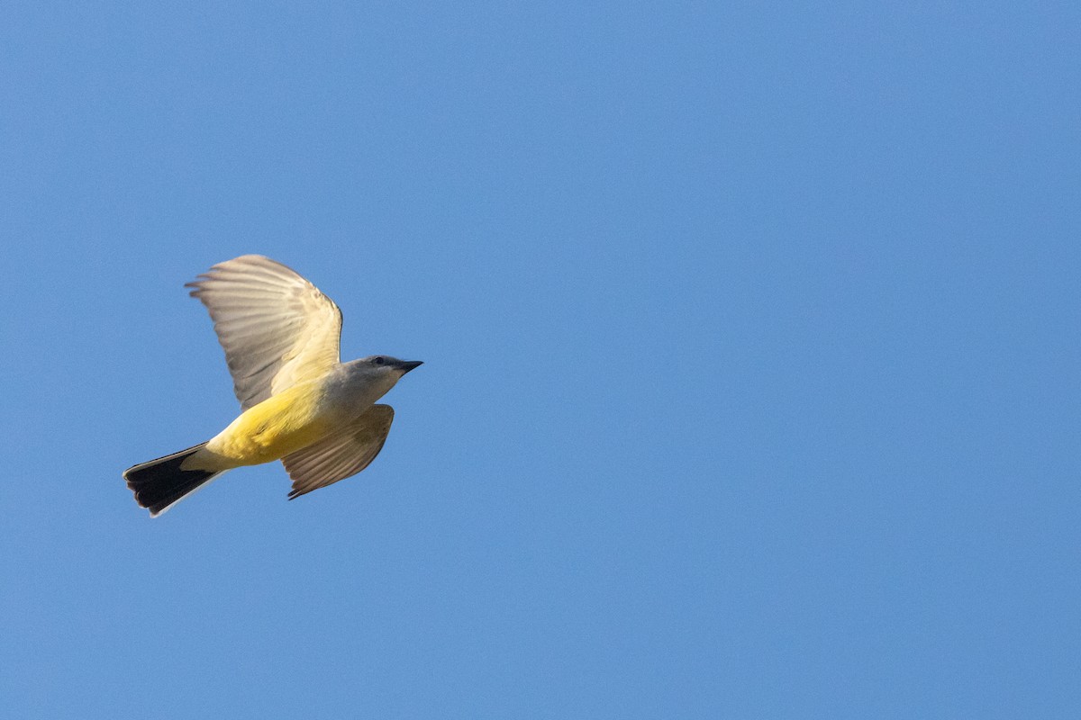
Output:
[[[243,255],[185,287],[210,311],[244,410],[338,363],[342,311],[280,262]]]

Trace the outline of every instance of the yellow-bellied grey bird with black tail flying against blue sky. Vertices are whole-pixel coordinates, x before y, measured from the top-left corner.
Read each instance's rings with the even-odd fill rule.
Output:
[[[276,460],[294,500],[375,459],[395,417],[376,400],[421,361],[341,362],[342,311],[262,255],[219,262],[185,287],[210,312],[241,412],[205,443],[125,470],[141,507],[157,517],[228,470]]]

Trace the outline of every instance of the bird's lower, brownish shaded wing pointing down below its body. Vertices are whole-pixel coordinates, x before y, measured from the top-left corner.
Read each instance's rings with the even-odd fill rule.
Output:
[[[375,460],[387,441],[395,410],[373,405],[350,424],[330,437],[281,459],[293,478],[292,500],[306,492],[356,475]]]

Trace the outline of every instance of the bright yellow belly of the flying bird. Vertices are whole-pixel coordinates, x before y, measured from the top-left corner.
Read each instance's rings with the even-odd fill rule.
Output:
[[[206,444],[231,466],[278,460],[316,443],[333,430],[321,417],[322,386],[306,382],[245,410]]]

